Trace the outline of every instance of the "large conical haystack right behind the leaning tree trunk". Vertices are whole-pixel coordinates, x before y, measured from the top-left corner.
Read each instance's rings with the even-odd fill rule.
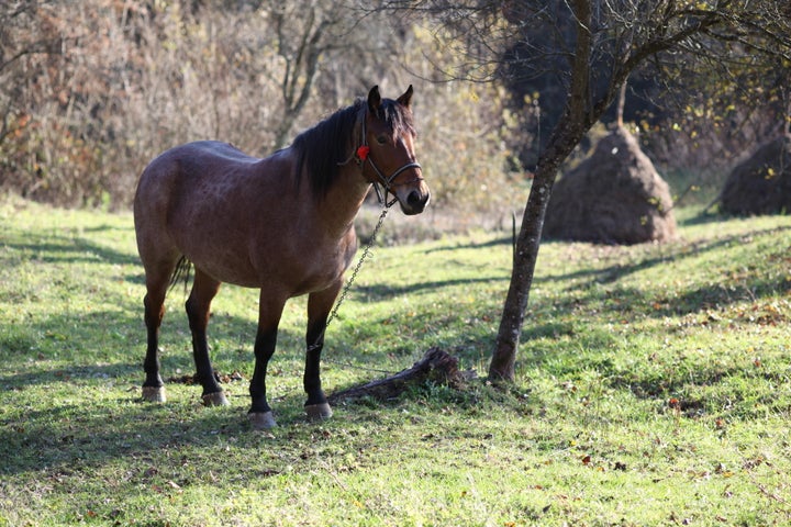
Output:
[[[544,236],[604,244],[676,237],[670,189],[628,131],[616,128],[557,181]]]

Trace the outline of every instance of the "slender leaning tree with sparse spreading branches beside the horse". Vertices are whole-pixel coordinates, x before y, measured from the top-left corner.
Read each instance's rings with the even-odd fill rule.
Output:
[[[648,61],[680,58],[725,74],[791,59],[787,0],[425,0],[390,2],[439,19],[467,44],[448,71],[491,80],[521,71],[565,87],[560,116],[535,168],[489,377],[513,381],[544,216],[564,160],[611,106],[630,75]],[[521,53],[508,55],[521,44]],[[447,70],[447,67],[445,68]],[[524,75],[524,74],[523,74]]]

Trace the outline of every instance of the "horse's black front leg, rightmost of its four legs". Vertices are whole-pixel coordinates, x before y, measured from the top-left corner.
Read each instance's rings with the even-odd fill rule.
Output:
[[[311,421],[322,421],[332,417],[332,407],[326,401],[321,384],[321,352],[324,347],[324,330],[326,321],[341,290],[342,280],[338,280],[324,291],[311,293],[308,296],[308,332],[305,333],[304,390],[308,394],[305,413]]]

